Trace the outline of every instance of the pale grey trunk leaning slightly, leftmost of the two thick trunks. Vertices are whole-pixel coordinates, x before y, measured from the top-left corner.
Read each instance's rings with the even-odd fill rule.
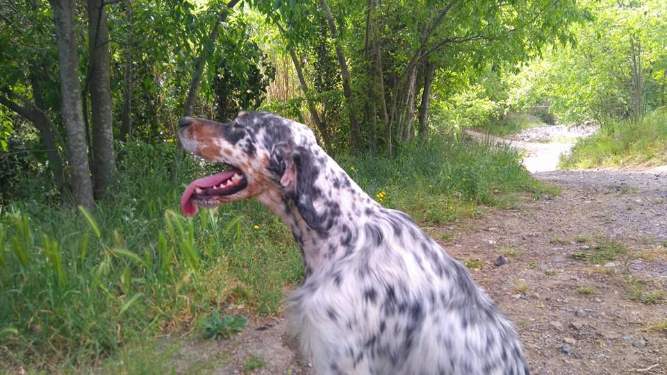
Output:
[[[60,94],[62,116],[67,132],[69,151],[70,185],[74,203],[92,209],[92,182],[85,150],[83,108],[79,83],[79,56],[76,54],[76,32],[74,27],[74,0],[50,0],[53,22],[56,24],[58,43],[58,65],[60,68]]]

